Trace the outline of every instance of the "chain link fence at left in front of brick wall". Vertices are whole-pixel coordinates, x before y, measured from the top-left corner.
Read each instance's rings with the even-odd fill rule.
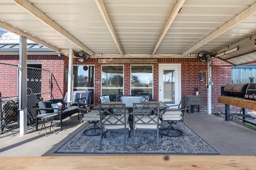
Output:
[[[0,63],[0,133],[19,127],[19,70],[18,65]],[[50,71],[27,67],[27,94],[50,97]],[[47,99],[48,100],[48,99]],[[28,107],[28,125],[34,122]]]

